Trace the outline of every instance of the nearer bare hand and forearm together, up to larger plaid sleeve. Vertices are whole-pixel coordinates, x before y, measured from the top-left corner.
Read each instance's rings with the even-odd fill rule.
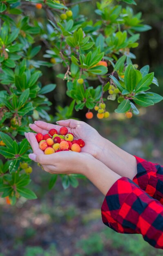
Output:
[[[33,154],[29,158],[42,164],[45,171],[52,174],[78,173],[85,175],[104,195],[121,176],[88,153],[60,151],[45,155],[39,148],[34,133],[26,133]]]

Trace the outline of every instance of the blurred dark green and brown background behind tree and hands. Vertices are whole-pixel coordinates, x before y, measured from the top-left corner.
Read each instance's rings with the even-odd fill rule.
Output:
[[[163,1],[136,2],[134,11],[141,11],[145,24],[152,29],[141,34],[140,45],[134,49],[135,63],[140,68],[150,65],[150,71],[155,72],[160,84],[159,88],[152,85],[152,91],[163,95]],[[81,3],[80,12],[94,19],[92,9],[95,7],[96,1]],[[38,11],[36,16],[40,20],[44,17],[40,17]],[[42,47],[39,58],[44,53]],[[42,72],[42,84],[60,85],[47,95],[53,102],[51,114],[55,115],[57,106],[64,107],[70,100],[65,96],[64,82],[56,78],[58,67],[42,67]],[[89,124],[127,152],[163,164],[163,102],[141,108],[140,115],[132,119],[113,113],[113,109],[112,103],[107,102],[107,110],[112,112],[110,119],[101,121],[94,117]],[[87,121],[85,110],[75,112],[74,117]],[[16,206],[11,207],[0,199],[0,256],[163,255],[162,250],[148,245],[141,235],[118,234],[105,227],[100,213],[104,197],[88,180],[80,180],[77,189],[66,191],[58,180],[49,191],[51,175],[37,165],[33,169],[31,186],[38,200],[26,202],[25,198],[20,198]]]

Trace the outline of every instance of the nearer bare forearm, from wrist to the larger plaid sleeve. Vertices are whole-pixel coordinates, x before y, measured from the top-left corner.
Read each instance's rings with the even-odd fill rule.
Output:
[[[114,173],[105,164],[97,159],[86,162],[83,174],[104,194],[106,195],[112,185],[121,178],[120,175]]]

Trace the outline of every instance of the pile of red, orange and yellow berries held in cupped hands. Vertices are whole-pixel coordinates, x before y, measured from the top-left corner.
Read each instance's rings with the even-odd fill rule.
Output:
[[[60,151],[75,151],[80,152],[85,146],[82,139],[74,139],[74,135],[68,132],[67,127],[60,128],[60,134],[56,129],[51,129],[47,134],[38,133],[36,139],[39,143],[39,148],[44,151],[45,155],[50,155]]]

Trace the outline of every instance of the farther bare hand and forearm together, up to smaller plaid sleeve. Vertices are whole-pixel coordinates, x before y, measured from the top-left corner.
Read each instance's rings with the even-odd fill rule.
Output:
[[[75,139],[80,138],[85,141],[85,146],[81,148],[82,152],[91,154],[122,177],[133,179],[137,174],[136,158],[103,138],[94,128],[85,122],[68,119],[58,121],[57,124],[59,125],[35,121],[35,124],[30,124],[29,126],[35,132],[41,132],[43,135],[52,128],[55,128],[59,132],[62,126],[66,126],[68,131],[75,135]]]

